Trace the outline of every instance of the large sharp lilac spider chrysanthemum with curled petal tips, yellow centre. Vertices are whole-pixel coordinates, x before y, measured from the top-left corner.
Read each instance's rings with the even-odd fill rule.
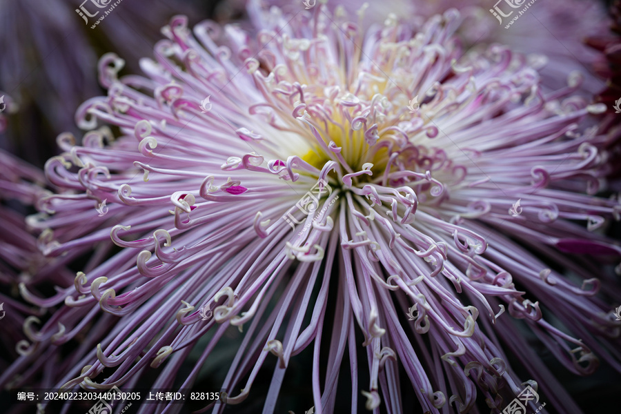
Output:
[[[277,358],[273,412],[311,347],[317,413],[348,398],[353,412],[413,400],[429,413],[500,411],[527,381],[578,413],[531,342],[578,375],[600,359],[621,371],[620,322],[596,296],[619,289],[595,279],[591,256],[621,253],[593,231],[620,214],[594,196],[607,137],[583,123],[602,108],[571,97],[573,81],[544,95],[507,48],[462,57],[455,10],[416,31],[387,21],[364,40],[319,4],[257,21],[253,39],[173,19],[156,61],[141,61],[146,77],[117,79],[121,61],[103,57],[108,97],[78,117],[119,133],[60,137],[47,173],[61,190],[29,220],[47,255],[95,253],[55,297],[22,289],[59,309],[26,323],[32,348],[0,382],[79,334],[61,368],[41,363],[16,385],[44,371],[47,385],[131,388],[150,366],[153,388],[188,388],[233,325],[228,404]],[[343,367],[351,396],[336,392]]]

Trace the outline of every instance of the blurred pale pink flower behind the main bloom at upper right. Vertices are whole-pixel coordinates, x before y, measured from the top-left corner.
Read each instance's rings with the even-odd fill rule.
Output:
[[[297,11],[297,4],[289,1],[248,1]],[[526,0],[384,0],[369,1],[361,8],[359,1],[339,0],[328,1],[327,6],[337,14],[341,10],[353,13],[366,9],[364,26],[383,23],[391,15],[407,16],[408,22],[420,23],[434,14],[457,8],[466,21],[457,33],[466,48],[500,43],[523,52],[529,55],[531,65],[539,69],[542,85],[549,88],[560,88],[569,75],[584,78],[583,93],[593,95],[604,86],[591,68],[600,54],[584,43],[586,37],[600,33],[610,22],[599,1],[546,0],[531,4]]]

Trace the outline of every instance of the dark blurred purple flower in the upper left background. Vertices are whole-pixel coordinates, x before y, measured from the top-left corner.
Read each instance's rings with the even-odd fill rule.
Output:
[[[60,132],[78,132],[75,109],[101,92],[96,77],[100,50],[117,50],[137,69],[138,59],[150,52],[159,38],[161,22],[192,10],[179,0],[121,1],[91,29],[107,10],[95,8],[91,1],[83,3],[91,14],[98,13],[86,24],[76,12],[81,2],[0,2],[0,90],[19,106],[6,135],[0,135],[0,148],[30,162],[43,164],[50,156],[54,146],[46,137],[53,143]],[[6,117],[0,115],[0,132]]]

